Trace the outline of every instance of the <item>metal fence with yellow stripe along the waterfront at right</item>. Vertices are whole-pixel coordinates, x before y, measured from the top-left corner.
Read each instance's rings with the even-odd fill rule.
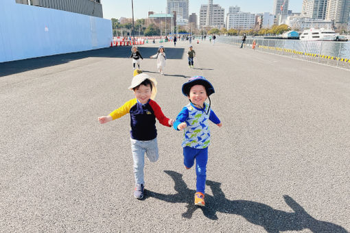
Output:
[[[238,37],[220,36],[217,40],[238,47],[242,45]],[[350,69],[350,42],[247,38],[245,46],[253,48],[254,40],[258,51]]]

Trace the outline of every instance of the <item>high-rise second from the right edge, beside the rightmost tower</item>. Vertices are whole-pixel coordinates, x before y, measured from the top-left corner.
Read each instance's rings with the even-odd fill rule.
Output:
[[[303,0],[301,14],[312,19],[325,19],[327,0]]]

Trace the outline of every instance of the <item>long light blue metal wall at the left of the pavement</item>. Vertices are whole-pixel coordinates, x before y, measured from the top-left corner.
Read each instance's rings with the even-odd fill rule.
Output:
[[[110,46],[110,20],[0,0],[0,62]]]

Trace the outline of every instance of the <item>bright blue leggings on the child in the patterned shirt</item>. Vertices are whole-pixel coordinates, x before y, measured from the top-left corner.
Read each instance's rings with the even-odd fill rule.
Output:
[[[183,164],[187,168],[194,166],[196,160],[197,192],[205,194],[205,180],[207,179],[208,147],[196,149],[183,147]]]

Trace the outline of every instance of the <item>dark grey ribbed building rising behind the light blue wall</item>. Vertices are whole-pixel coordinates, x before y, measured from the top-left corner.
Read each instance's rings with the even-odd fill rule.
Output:
[[[102,4],[100,0],[16,0],[16,3],[26,5],[30,4],[40,6],[42,8],[64,10],[66,12],[74,12],[103,18]]]

